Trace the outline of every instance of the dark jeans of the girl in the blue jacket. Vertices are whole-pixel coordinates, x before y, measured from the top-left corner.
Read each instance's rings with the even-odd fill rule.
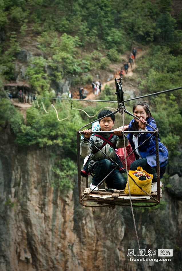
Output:
[[[143,170],[153,175],[152,182],[157,182],[157,171],[156,167],[151,167],[147,164],[147,158],[137,159],[130,165],[130,170],[137,170],[137,167],[142,167]]]

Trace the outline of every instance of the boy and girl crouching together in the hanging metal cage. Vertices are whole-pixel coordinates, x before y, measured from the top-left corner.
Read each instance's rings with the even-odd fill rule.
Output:
[[[129,125],[114,129],[112,134],[97,134],[97,131],[111,131],[115,123],[115,115],[111,110],[102,110],[98,114],[99,122],[93,123],[92,129],[83,130],[80,154],[85,157],[85,160],[81,175],[86,177],[89,174],[93,177],[89,187],[90,191],[98,191],[98,185],[104,178],[103,183],[106,191],[125,189],[127,181],[122,173],[126,170],[121,163],[123,159],[117,155],[120,150],[121,153],[123,152],[124,145],[134,151],[134,155],[133,153],[131,156],[129,155],[131,158],[127,161],[125,168],[136,170],[140,166],[153,175],[152,182],[157,181],[155,136],[146,132],[157,128],[155,119],[151,115],[147,102],[136,103],[133,106],[133,115],[135,117]],[[91,133],[93,130],[95,134]],[[139,133],[128,133],[128,136],[123,137],[123,130],[139,131]],[[146,141],[146,139],[148,140]],[[141,143],[143,144],[141,145]],[[160,178],[162,178],[167,166],[168,151],[160,139],[158,139],[158,143]],[[127,147],[126,150],[128,150]],[[117,166],[116,163],[117,165],[120,163],[120,165]],[[111,174],[107,176],[109,173]]]

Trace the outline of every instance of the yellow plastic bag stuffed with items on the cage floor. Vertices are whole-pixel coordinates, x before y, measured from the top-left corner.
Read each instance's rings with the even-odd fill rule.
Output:
[[[137,173],[136,173],[137,172]],[[137,174],[137,176],[133,175],[133,173]],[[131,195],[147,195],[145,192],[143,192],[131,179],[131,177],[135,180],[137,185],[139,185],[144,191],[146,191],[148,194],[151,193],[151,184],[152,184],[152,179],[153,175],[147,173],[147,171],[143,170],[142,167],[137,167],[137,170],[130,170],[128,172],[128,179],[129,179],[129,190]],[[145,176],[146,180],[139,180],[141,176]],[[126,184],[124,193],[129,194],[128,190],[128,183]]]

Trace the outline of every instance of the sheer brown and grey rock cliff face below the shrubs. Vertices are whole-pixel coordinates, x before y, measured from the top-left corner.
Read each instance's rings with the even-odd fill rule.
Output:
[[[129,249],[139,253],[130,207],[82,207],[77,177],[67,195],[53,189],[50,150],[17,147],[7,131],[0,152],[1,271],[143,270],[127,256]],[[173,249],[170,262],[145,262],[147,270],[182,270],[181,192],[169,192],[158,209],[134,209],[145,254]]]

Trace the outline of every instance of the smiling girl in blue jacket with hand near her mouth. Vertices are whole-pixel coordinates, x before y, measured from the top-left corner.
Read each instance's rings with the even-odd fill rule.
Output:
[[[134,118],[131,120],[129,126],[124,126],[124,130],[128,131],[141,131],[141,134],[128,134],[128,140],[134,150],[142,142],[151,136],[150,133],[142,133],[142,131],[153,131],[157,128],[155,120],[149,110],[149,105],[146,102],[138,102],[133,106],[133,115],[138,117],[139,120]],[[123,129],[123,127],[120,127]],[[144,144],[134,151],[136,160],[131,163],[130,170],[136,170],[137,167],[142,167],[148,173],[153,175],[153,182],[157,181],[156,172],[156,155],[155,155],[155,136],[151,136]],[[160,164],[160,177],[163,177],[167,166],[168,151],[159,139],[159,164]]]

